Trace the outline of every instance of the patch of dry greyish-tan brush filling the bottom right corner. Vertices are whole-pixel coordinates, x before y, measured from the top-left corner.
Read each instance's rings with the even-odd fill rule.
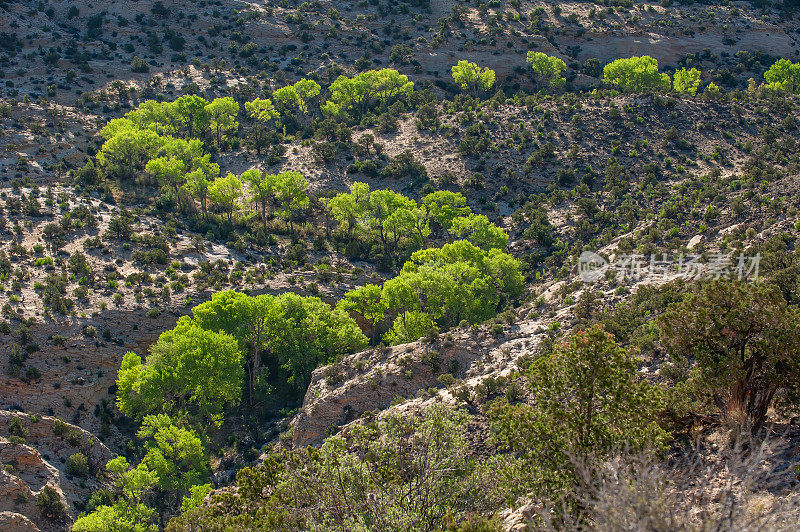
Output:
[[[785,438],[757,442],[750,436],[740,436],[720,451],[708,452],[698,445],[667,460],[654,453],[626,452],[602,461],[573,458],[580,487],[561,505],[543,505],[530,528],[596,532],[797,530],[800,495],[792,485],[798,463],[788,451]],[[565,510],[567,507],[580,508],[580,517]]]

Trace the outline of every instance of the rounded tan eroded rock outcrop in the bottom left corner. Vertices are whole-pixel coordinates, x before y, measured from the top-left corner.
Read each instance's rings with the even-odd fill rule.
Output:
[[[70,456],[86,457],[88,471],[68,471]],[[54,417],[0,411],[0,530],[61,531],[86,498],[106,487],[97,472],[114,457],[96,436]],[[65,507],[62,518],[45,515],[37,495],[52,487]]]

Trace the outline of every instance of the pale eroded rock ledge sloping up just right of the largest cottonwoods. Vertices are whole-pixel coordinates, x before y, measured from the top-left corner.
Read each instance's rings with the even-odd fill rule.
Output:
[[[538,349],[550,323],[569,319],[569,310],[534,316],[513,325],[457,329],[433,341],[371,349],[317,369],[290,425],[292,446],[319,445],[334,429],[365,413],[420,406],[424,400],[414,400],[419,395],[451,402],[459,389],[473,393],[488,378],[510,375],[521,356]]]

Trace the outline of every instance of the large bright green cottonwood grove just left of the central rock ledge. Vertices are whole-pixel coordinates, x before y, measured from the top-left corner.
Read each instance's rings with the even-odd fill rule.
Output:
[[[217,292],[163,333],[144,363],[125,355],[117,404],[138,419],[164,412],[219,423],[224,408],[241,399],[245,365],[252,401],[273,385],[302,392],[319,365],[366,345],[346,311],[319,298]]]

